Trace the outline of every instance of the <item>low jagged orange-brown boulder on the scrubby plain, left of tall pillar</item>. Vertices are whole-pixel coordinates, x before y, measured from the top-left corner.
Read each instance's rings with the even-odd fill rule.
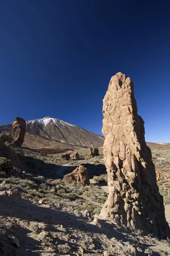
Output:
[[[88,170],[80,165],[77,167],[73,172],[68,173],[67,175],[64,176],[63,180],[75,180],[77,182],[81,182],[85,185],[90,184],[90,180],[88,177]]]

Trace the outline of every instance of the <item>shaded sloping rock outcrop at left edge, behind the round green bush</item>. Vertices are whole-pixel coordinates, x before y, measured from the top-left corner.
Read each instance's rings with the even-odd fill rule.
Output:
[[[0,143],[0,157],[6,157],[11,160],[15,167],[23,169],[23,165],[20,162],[15,151],[10,147],[9,143]]]

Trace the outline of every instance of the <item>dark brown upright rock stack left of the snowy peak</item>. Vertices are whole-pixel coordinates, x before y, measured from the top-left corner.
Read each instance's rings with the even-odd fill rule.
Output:
[[[13,143],[21,146],[24,142],[26,134],[26,121],[21,117],[16,117],[12,124]]]

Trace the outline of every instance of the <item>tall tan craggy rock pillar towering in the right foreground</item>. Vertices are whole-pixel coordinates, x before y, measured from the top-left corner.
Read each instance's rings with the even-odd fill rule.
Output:
[[[167,238],[170,228],[151,151],[144,139],[144,121],[137,114],[133,82],[122,73],[111,78],[103,100],[103,116],[109,196],[101,215]]]

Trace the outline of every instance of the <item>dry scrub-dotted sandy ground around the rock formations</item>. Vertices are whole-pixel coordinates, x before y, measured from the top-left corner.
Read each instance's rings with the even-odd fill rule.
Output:
[[[102,148],[99,148],[98,157],[90,159],[87,149],[78,149],[82,159],[69,161],[61,158],[62,153],[42,154],[26,148],[14,149],[23,162],[24,171],[0,174],[0,180],[6,180],[0,190],[10,188],[18,193],[15,200],[0,196],[0,255],[170,255],[169,241],[159,241],[138,230],[134,232],[98,215],[107,198],[107,193],[98,186],[105,185],[103,182],[107,180]],[[159,186],[167,192],[166,200],[169,189],[162,189],[162,186],[166,186],[165,177],[170,172],[166,164],[169,153],[169,149],[152,149],[155,164],[161,160],[159,168],[164,180],[161,178],[160,181],[164,183]],[[89,176],[97,183],[83,186],[63,182],[64,173],[71,172],[81,163],[88,167]],[[99,220],[95,222],[96,214]],[[18,239],[19,248],[12,244],[13,237]]]

